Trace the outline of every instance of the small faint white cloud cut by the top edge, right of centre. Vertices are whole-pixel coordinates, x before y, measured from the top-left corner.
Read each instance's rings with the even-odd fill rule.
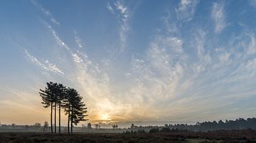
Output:
[[[183,21],[191,21],[196,11],[196,5],[198,2],[198,0],[181,0],[180,4],[178,4],[178,8],[176,8],[178,19]]]

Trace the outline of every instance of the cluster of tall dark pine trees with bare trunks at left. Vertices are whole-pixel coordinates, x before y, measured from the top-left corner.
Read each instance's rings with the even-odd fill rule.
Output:
[[[46,88],[40,89],[40,96],[44,108],[50,107],[50,130],[53,133],[53,110],[54,110],[54,132],[56,133],[56,110],[58,109],[59,133],[60,133],[60,109],[64,109],[68,115],[68,133],[73,133],[73,125],[85,121],[87,108],[82,102],[82,96],[74,88],[66,88],[63,84],[48,82]],[[71,126],[71,127],[70,127]]]

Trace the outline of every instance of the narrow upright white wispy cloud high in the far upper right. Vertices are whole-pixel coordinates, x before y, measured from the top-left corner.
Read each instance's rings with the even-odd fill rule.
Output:
[[[215,32],[220,33],[227,26],[224,4],[213,3],[211,16],[215,23]]]

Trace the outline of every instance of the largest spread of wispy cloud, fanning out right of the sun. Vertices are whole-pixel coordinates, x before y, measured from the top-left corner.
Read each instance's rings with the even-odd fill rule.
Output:
[[[206,30],[196,28],[186,39],[175,36],[181,31],[175,23],[168,18],[164,18],[164,22],[166,29],[151,40],[146,56],[132,59],[132,67],[125,74],[132,80],[132,86],[124,95],[133,95],[129,96],[132,101],[126,99],[133,103],[133,110],[137,105],[146,104],[140,111],[152,108],[154,114],[154,117],[145,115],[146,118],[213,120],[216,117],[210,113],[220,108],[232,109],[240,98],[254,95],[255,90],[250,90],[252,84],[244,81],[256,78],[253,71],[256,60],[250,55],[255,52],[254,35],[245,31],[236,38],[228,38],[225,47],[218,47],[217,38],[210,37]],[[240,91],[241,86],[250,92]],[[155,108],[161,109],[161,113]]]

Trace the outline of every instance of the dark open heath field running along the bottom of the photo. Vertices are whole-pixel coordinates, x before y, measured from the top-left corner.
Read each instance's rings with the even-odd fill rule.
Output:
[[[2,132],[0,142],[256,142],[253,130],[172,132],[155,134]]]

